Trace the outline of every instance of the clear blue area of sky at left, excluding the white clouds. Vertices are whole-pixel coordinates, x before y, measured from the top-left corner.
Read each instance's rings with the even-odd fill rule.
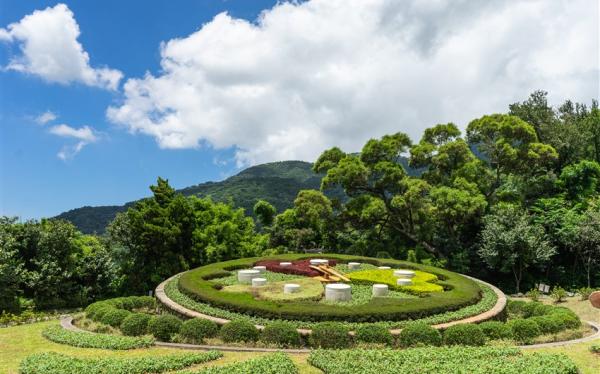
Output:
[[[273,1],[102,1],[66,2],[81,29],[79,41],[92,64],[141,76],[160,68],[159,44],[188,35],[222,11],[250,20]],[[18,22],[55,1],[0,2],[0,27]],[[9,48],[10,47],[10,48]],[[12,51],[10,50],[12,49]],[[5,65],[17,47],[0,44]],[[152,138],[132,136],[107,121],[117,95],[82,84],[47,83],[20,72],[0,72],[0,215],[52,216],[82,205],[121,204],[148,193],[157,176],[186,187],[235,172],[214,157],[231,151],[161,150]],[[90,125],[101,140],[72,159],[56,154],[72,140],[48,133],[33,118],[56,113],[53,123]]]

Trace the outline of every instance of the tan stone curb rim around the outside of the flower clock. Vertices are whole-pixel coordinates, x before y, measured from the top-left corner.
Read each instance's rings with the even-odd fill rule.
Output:
[[[174,302],[167,296],[167,294],[165,293],[165,285],[180,274],[183,274],[183,273],[173,275],[172,277],[166,279],[165,281],[163,281],[156,287],[155,295],[156,295],[156,298],[158,299],[158,301],[161,304],[163,304],[165,307],[167,307],[168,309],[170,309],[184,317],[187,317],[187,318],[208,319],[210,321],[215,322],[218,325],[224,325],[224,324],[228,323],[229,322],[228,319],[218,318],[218,317],[214,317],[214,316],[211,316],[208,314],[197,312],[195,310],[188,309],[182,305],[177,304],[176,302]],[[483,321],[487,321],[489,319],[496,317],[498,314],[502,313],[502,311],[506,307],[506,302],[507,302],[506,295],[498,287],[496,287],[492,284],[489,284],[487,282],[484,282],[482,280],[479,280],[477,278],[473,278],[468,275],[464,275],[464,274],[460,274],[460,275],[462,275],[463,277],[469,278],[471,280],[474,280],[476,282],[483,283],[486,286],[490,287],[497,296],[496,304],[492,307],[492,309],[485,311],[483,313],[477,314],[475,316],[463,318],[463,319],[456,320],[456,321],[450,321],[450,322],[433,325],[433,327],[436,329],[443,330],[443,329],[447,329],[448,327],[453,326],[453,325],[458,325],[458,324],[463,324],[463,323],[480,323]],[[259,330],[262,330],[265,328],[262,325],[255,325],[255,326]],[[304,336],[310,335],[312,333],[312,330],[310,330],[310,329],[297,329],[297,330],[301,335],[304,335]],[[401,329],[391,329],[390,333],[392,333],[392,335],[398,335],[398,334],[400,334],[400,331],[401,331]],[[353,332],[351,332],[351,334],[353,334]]]

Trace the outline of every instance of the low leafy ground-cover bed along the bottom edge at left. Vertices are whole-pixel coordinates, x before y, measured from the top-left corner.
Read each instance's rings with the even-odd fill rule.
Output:
[[[180,370],[221,358],[217,351],[168,356],[81,359],[54,352],[27,356],[19,367],[21,374],[146,374]]]

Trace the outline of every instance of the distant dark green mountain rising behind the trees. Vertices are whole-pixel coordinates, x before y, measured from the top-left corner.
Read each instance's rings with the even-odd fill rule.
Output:
[[[277,212],[292,206],[300,190],[318,189],[321,176],[315,174],[312,164],[303,161],[281,161],[252,166],[221,182],[206,182],[178,190],[190,196],[211,196],[216,201],[232,201],[252,214],[259,199],[273,204]],[[135,202],[125,205],[84,206],[59,214],[54,218],[72,222],[86,234],[104,232],[117,213],[127,210]]]

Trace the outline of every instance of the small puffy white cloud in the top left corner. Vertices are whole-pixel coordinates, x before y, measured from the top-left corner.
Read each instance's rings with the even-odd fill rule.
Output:
[[[106,67],[92,68],[88,53],[77,41],[79,34],[73,12],[65,4],[36,10],[6,29],[0,28],[0,40],[18,43],[22,53],[11,58],[5,69],[49,82],[79,82],[116,90],[123,74]]]

